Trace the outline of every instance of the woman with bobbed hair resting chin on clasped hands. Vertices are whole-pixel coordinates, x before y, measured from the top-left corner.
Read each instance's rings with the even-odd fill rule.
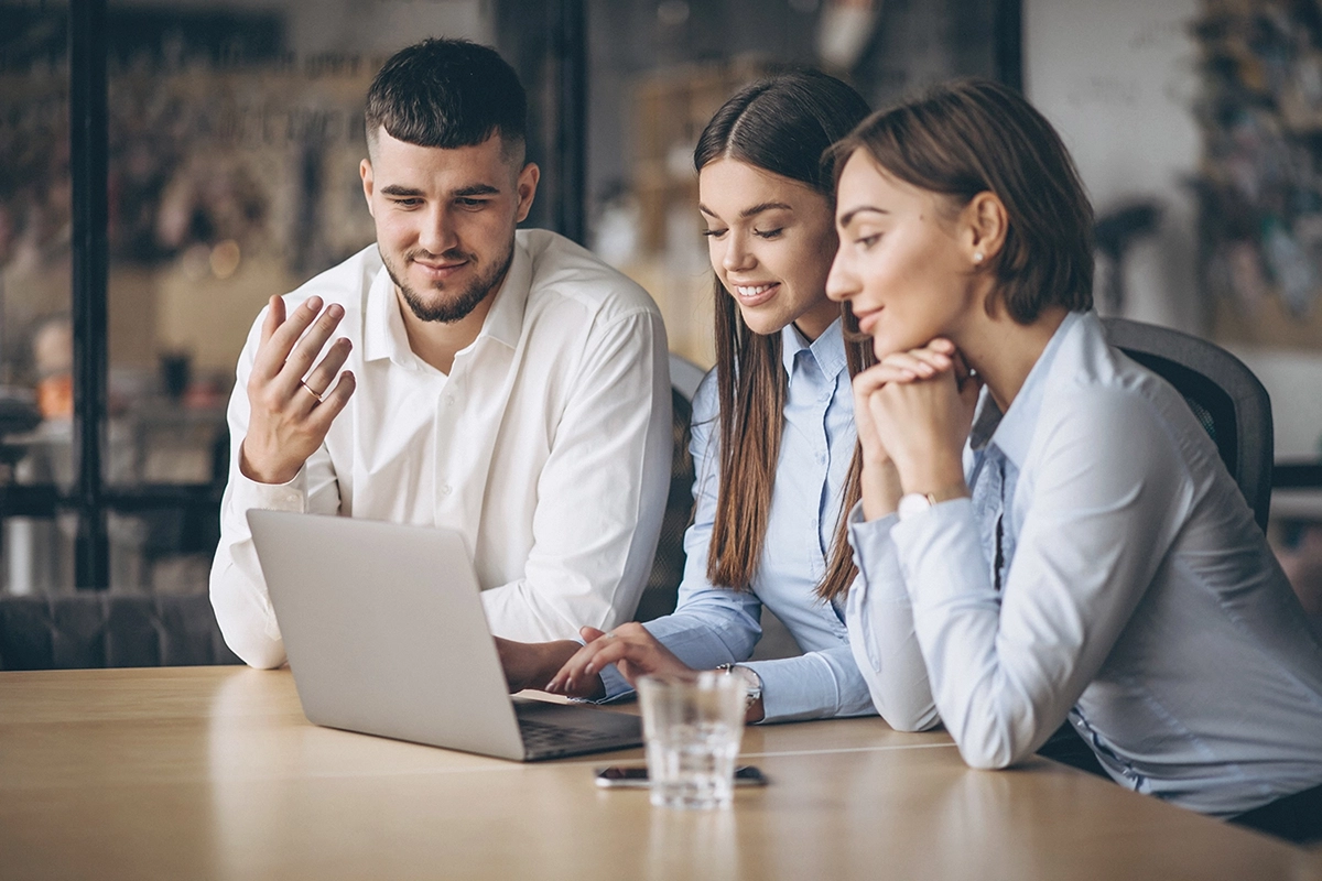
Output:
[[[879,359],[854,380],[863,674],[888,687],[871,627],[911,610],[970,765],[1068,720],[1129,789],[1322,837],[1322,646],[1185,399],[1108,345],[1060,137],[970,81],[833,152],[826,289]]]

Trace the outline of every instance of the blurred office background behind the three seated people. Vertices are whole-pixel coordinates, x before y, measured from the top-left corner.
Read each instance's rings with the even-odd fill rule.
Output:
[[[0,590],[205,592],[245,335],[373,240],[364,92],[428,34],[516,66],[529,225],[642,283],[703,367],[691,151],[732,91],[785,65],[874,106],[1023,88],[1097,209],[1099,309],[1207,337],[1270,391],[1272,539],[1322,613],[1317,0],[0,1]]]

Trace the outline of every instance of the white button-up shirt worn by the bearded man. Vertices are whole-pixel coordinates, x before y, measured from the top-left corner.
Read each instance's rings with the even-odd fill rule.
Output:
[[[234,652],[256,667],[284,662],[249,509],[459,530],[501,637],[575,638],[583,625],[628,619],[670,476],[665,328],[646,292],[564,238],[521,230],[483,329],[448,376],[408,347],[377,246],[288,295],[287,308],[313,295],[345,309],[337,333],[353,342],[345,366],[357,390],[293,481],[243,477],[258,317],[230,399],[212,567],[212,604]]]

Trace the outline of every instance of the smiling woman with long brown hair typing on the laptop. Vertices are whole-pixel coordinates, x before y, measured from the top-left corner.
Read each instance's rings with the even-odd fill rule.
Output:
[[[693,405],[697,507],[678,605],[644,625],[584,629],[550,689],[611,697],[640,674],[724,667],[747,680],[750,721],[873,712],[843,610],[855,575],[843,512],[859,468],[850,376],[867,346],[845,342],[826,297],[837,238],[821,164],[866,114],[845,83],[797,71],[744,88],[702,132],[717,367]],[[805,654],[744,663],[764,605]]]

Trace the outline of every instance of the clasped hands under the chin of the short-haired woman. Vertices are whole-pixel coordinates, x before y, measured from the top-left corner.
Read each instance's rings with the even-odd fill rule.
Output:
[[[961,454],[981,388],[944,338],[891,353],[854,378],[866,519],[892,512],[904,493],[966,493]]]

